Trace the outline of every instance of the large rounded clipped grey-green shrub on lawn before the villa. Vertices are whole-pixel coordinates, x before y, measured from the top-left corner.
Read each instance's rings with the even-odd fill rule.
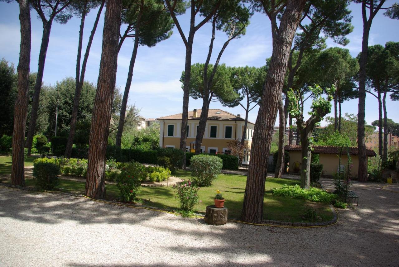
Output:
[[[208,187],[223,167],[221,158],[210,155],[195,155],[191,158],[191,175],[200,187]]]

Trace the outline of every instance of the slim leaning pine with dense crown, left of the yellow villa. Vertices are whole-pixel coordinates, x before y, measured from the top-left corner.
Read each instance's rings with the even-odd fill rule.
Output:
[[[118,131],[115,144],[120,147],[124,128],[126,106],[132,84],[134,63],[136,62],[139,45],[155,46],[158,42],[168,39],[172,35],[174,26],[170,14],[165,10],[161,0],[130,1],[122,10],[122,22],[128,24],[119,41],[119,49],[126,37],[134,37],[132,56],[124,88],[122,106],[120,108]],[[134,34],[131,32],[134,31]]]

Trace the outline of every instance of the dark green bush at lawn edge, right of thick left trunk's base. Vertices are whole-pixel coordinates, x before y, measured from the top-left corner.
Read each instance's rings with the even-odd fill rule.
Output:
[[[140,166],[142,166],[139,163]],[[137,169],[136,164],[130,163],[122,169],[120,175],[117,176],[117,187],[120,192],[120,198],[123,201],[130,202],[134,200],[141,189],[141,181],[138,175],[134,175],[133,170]],[[140,173],[140,169],[138,170]]]

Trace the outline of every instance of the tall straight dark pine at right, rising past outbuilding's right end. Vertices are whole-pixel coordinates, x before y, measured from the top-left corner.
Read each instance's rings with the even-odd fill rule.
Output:
[[[369,33],[371,24],[375,15],[383,8],[385,0],[379,2],[373,0],[356,0],[361,3],[361,14],[363,20],[363,37],[361,41],[361,53],[359,57],[359,104],[358,104],[358,149],[359,149],[359,181],[367,181],[367,157],[366,157],[366,144],[364,134],[365,124],[365,103],[366,103],[366,66],[367,66],[367,51],[369,44]],[[396,4],[394,5],[397,6]],[[397,11],[392,7],[383,8],[387,9],[386,16],[398,19]]]

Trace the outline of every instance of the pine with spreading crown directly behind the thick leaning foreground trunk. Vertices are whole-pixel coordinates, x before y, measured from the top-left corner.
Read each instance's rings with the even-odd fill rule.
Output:
[[[305,24],[309,21],[308,24]],[[291,49],[288,60],[288,79],[283,92],[289,90],[294,83],[294,77],[298,68],[302,63],[302,58],[306,51],[310,49],[321,48],[324,46],[324,38],[330,37],[336,43],[346,45],[349,41],[346,35],[352,32],[350,24],[351,16],[348,10],[348,0],[310,0],[306,4],[299,27],[302,30],[296,34],[294,46]],[[320,37],[320,33],[324,37]],[[296,53],[294,53],[296,52]],[[275,177],[280,178],[284,167],[284,137],[288,120],[288,97],[279,104],[279,152],[276,163]],[[292,125],[292,118],[290,118]],[[290,128],[290,136],[292,136],[292,128]],[[297,140],[298,140],[297,136]],[[292,141],[292,138],[291,138]]]

